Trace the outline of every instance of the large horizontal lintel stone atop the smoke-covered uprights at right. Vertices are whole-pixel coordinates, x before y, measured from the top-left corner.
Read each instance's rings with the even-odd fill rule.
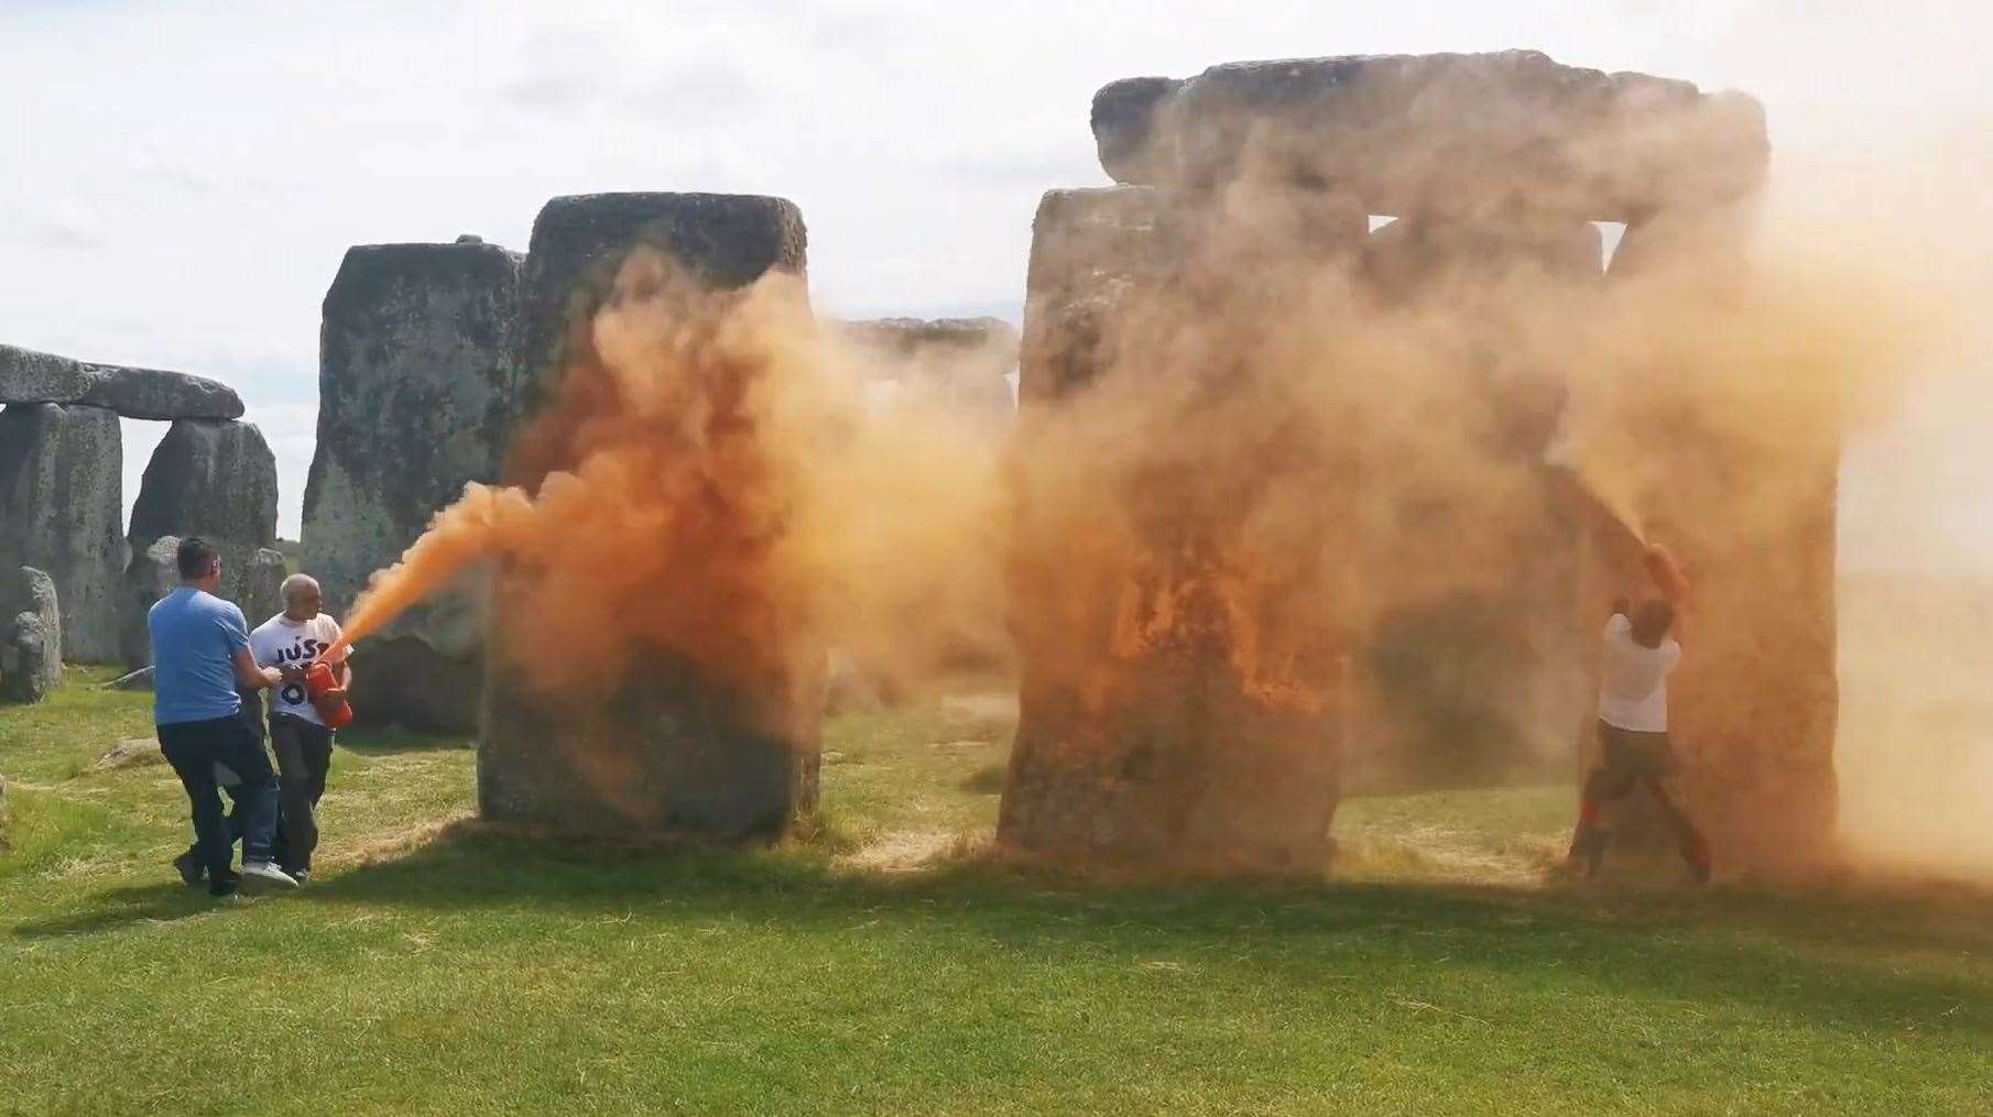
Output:
[[[1636,221],[1750,195],[1770,143],[1742,94],[1561,66],[1539,52],[1234,62],[1094,104],[1118,181],[1266,179],[1371,213],[1551,211]]]

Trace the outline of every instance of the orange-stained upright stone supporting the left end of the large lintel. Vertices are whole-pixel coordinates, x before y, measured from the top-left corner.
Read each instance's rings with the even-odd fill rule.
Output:
[[[1104,472],[1030,468],[1090,462],[1060,444],[1076,428],[1050,420],[1080,388],[1110,374],[1132,378],[1124,392],[1150,376],[1216,388],[1238,370],[1224,344],[1206,366],[1202,327],[1256,321],[1280,305],[1281,277],[1353,257],[1363,215],[1293,193],[1228,209],[1124,187],[1054,191],[1038,207],[1018,384],[1010,577],[1022,685],[998,818],[1008,844],[1250,866],[1325,856],[1341,763],[1337,643],[1319,613],[1270,611],[1254,583],[1264,571],[1230,558],[1236,514],[1262,496],[1256,478],[1186,486],[1168,510],[1142,500],[1142,486],[1202,472],[1200,450],[1186,448],[1194,416],[1164,412],[1154,438],[1134,438],[1130,460]],[[1295,450],[1287,468],[1323,464]],[[1317,504],[1335,508],[1321,480]],[[1323,526],[1295,516],[1303,548]],[[1291,587],[1319,589],[1309,573]]]

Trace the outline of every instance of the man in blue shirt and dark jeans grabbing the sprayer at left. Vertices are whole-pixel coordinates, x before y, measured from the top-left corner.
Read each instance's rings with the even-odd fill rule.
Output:
[[[235,892],[241,878],[297,888],[271,864],[277,830],[277,777],[263,741],[241,719],[241,695],[275,687],[283,675],[257,667],[249,655],[243,611],[215,597],[221,556],[199,536],[179,542],[179,587],[145,615],[151,633],[151,709],[159,751],[173,765],[193,806],[193,840],[207,890]],[[221,814],[221,784],[239,781],[235,810],[243,818],[243,870],[229,870],[235,842]],[[189,874],[191,876],[191,874]]]

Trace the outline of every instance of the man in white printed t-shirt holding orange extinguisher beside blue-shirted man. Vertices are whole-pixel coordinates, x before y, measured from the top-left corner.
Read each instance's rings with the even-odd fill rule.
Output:
[[[293,573],[283,579],[283,611],[249,633],[259,667],[283,673],[269,695],[269,743],[277,751],[277,788],[283,806],[281,862],[301,884],[311,876],[319,846],[319,798],[333,765],[333,731],[305,695],[305,669],[339,639],[339,621],[319,611],[317,579]],[[343,651],[333,663],[339,689],[353,687]]]

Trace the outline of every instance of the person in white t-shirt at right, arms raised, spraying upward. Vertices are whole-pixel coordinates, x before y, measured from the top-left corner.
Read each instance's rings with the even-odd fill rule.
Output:
[[[1586,874],[1598,872],[1610,840],[1598,824],[1602,804],[1646,786],[1688,870],[1698,882],[1710,878],[1710,844],[1662,782],[1678,771],[1668,743],[1668,673],[1682,661],[1682,645],[1668,635],[1672,627],[1672,601],[1646,601],[1638,611],[1618,601],[1606,621],[1598,667],[1598,765],[1584,781],[1570,836],[1570,862]]]

